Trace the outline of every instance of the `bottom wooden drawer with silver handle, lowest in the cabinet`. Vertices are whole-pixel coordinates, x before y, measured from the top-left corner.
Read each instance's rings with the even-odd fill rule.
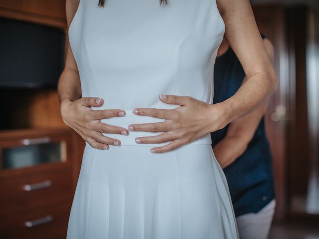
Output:
[[[0,217],[1,239],[65,239],[71,204]]]

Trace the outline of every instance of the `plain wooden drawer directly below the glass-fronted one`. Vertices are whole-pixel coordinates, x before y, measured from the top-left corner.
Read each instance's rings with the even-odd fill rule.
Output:
[[[72,201],[72,171],[61,170],[0,181],[0,216]]]

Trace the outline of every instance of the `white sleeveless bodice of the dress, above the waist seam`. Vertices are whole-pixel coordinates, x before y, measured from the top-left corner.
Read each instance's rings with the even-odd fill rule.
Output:
[[[187,95],[212,104],[213,64],[225,25],[215,0],[80,0],[69,28],[82,96],[102,97],[103,106],[123,109],[125,117],[102,119],[127,127],[163,119],[136,116],[137,107],[172,109],[160,94]],[[122,145],[137,136],[109,134]],[[210,135],[196,143],[211,143]],[[157,144],[160,145],[160,144]]]

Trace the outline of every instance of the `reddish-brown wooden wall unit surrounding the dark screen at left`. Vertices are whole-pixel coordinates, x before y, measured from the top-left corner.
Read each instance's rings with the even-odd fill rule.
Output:
[[[67,37],[65,0],[0,0],[0,17]],[[64,125],[56,89],[0,89],[0,102],[12,126],[0,130],[0,239],[63,239],[85,142]]]

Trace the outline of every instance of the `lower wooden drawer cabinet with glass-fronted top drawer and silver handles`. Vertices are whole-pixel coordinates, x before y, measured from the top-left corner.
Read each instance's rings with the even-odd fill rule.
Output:
[[[78,176],[73,138],[69,129],[0,131],[1,239],[65,238]]]

